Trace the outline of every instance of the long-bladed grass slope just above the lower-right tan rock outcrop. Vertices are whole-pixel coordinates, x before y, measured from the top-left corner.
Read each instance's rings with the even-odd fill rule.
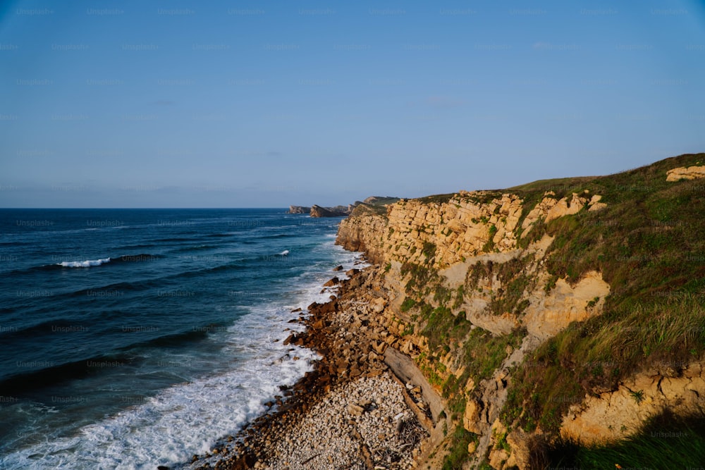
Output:
[[[526,431],[540,424],[557,432],[560,416],[586,393],[615,389],[620,378],[639,367],[679,366],[703,354],[704,297],[684,293],[609,311],[573,323],[517,367],[502,420]]]

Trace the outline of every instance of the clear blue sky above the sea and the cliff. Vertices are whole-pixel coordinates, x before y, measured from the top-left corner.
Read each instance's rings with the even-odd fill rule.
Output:
[[[4,1],[0,206],[510,187],[705,151],[702,1]]]

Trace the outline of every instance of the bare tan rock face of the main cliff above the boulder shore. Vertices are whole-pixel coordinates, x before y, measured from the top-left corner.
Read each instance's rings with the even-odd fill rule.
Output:
[[[364,251],[371,261],[386,265],[389,308],[406,333],[404,352],[436,379],[439,388],[450,377],[462,378],[455,392],[465,402],[465,412],[456,418],[477,435],[476,464],[496,443],[510,368],[572,321],[599,315],[610,292],[597,272],[587,273],[575,285],[551,280],[542,265],[552,238],[540,237],[522,246],[520,240],[528,238],[536,224],[601,209],[599,199],[587,191],[562,198],[546,192],[527,208],[517,194],[460,192],[446,201],[401,199],[388,206],[386,215],[364,214],[341,222],[338,244]],[[446,302],[439,299],[439,292],[448,297]],[[513,338],[515,344],[506,341],[502,350],[493,352],[500,360],[491,370],[465,373],[462,339],[438,354],[429,345],[435,338],[424,334],[432,319],[419,319],[423,314],[413,319],[410,304],[436,310],[451,305],[453,323],[460,317],[470,334],[477,328],[489,333],[488,338]],[[510,453],[502,452],[506,455],[495,456],[495,461],[505,457],[510,464],[521,463],[516,455],[510,459]]]

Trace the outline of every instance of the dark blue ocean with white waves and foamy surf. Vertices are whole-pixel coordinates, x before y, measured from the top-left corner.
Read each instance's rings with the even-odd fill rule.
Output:
[[[264,414],[317,358],[292,310],[360,263],[339,221],[0,209],[0,468],[178,468]]]

